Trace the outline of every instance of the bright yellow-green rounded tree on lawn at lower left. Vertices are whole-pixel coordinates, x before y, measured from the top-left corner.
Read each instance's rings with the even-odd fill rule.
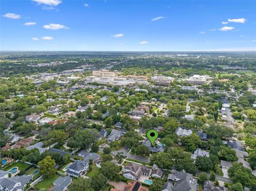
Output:
[[[40,167],[40,172],[45,177],[50,177],[56,172],[56,169],[54,169],[56,163],[51,156],[46,156],[42,161],[38,162],[38,165]]]

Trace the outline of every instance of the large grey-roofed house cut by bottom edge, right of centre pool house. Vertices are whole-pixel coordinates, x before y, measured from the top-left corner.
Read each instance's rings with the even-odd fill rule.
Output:
[[[185,170],[173,170],[172,173],[168,175],[167,180],[171,183],[169,185],[169,188],[171,188],[171,190],[196,191],[198,188],[197,179],[195,179],[193,175],[187,173]],[[167,190],[171,191],[170,189]]]

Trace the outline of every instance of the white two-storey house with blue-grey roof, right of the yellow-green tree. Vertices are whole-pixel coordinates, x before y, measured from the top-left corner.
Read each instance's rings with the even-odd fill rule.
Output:
[[[88,169],[89,169],[89,163],[80,161],[80,160],[76,160],[68,167],[68,170],[66,171],[66,173],[69,176],[73,176],[73,177],[77,178],[80,175],[82,175],[85,171],[87,171]]]

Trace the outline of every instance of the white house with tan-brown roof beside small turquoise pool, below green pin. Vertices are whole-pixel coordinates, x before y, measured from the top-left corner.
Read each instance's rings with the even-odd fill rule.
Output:
[[[124,167],[123,176],[131,180],[139,180],[140,177],[149,176],[151,169],[140,164],[130,163]]]

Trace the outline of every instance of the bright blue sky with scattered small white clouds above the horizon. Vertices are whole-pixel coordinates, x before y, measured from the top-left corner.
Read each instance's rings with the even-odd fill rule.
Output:
[[[256,1],[1,1],[2,51],[255,51]]]

